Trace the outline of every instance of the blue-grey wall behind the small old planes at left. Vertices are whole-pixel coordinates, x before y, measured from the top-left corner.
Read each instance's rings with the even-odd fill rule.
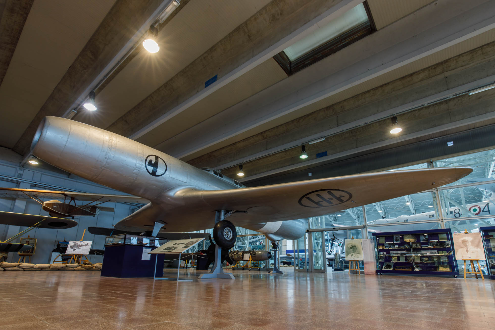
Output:
[[[4,148],[0,148],[4,149]],[[50,189],[64,191],[83,191],[90,193],[104,194],[122,194],[119,191],[109,189],[107,187],[95,184],[88,180],[74,176],[72,174],[45,169],[44,166],[35,167],[34,165],[26,165],[23,168],[19,167],[21,160],[17,157],[12,157],[8,151],[0,150],[0,186],[10,188],[27,188],[27,189]],[[41,165],[41,164],[40,164]],[[45,165],[45,167],[49,167]],[[24,182],[19,182],[22,180]],[[17,182],[16,182],[17,181]],[[47,185],[43,187],[43,185]],[[78,204],[82,204],[79,202]],[[75,217],[79,225],[68,229],[46,229],[35,228],[23,236],[37,238],[36,253],[31,257],[31,262],[34,264],[48,263],[51,256],[51,251],[56,247],[58,241],[79,240],[84,229],[89,226],[111,227],[119,220],[127,217],[134,212],[136,206],[123,203],[103,203],[101,206],[114,208],[115,212],[100,212],[96,217]],[[33,215],[46,215],[48,213],[41,209],[41,204],[32,199],[10,199],[0,198],[0,211],[18,212]],[[15,225],[0,224],[0,240],[5,240],[12,237],[16,233],[26,229]],[[86,231],[84,235],[85,241],[93,241],[92,248],[103,249],[104,236],[92,235]],[[19,242],[19,239],[14,241]],[[19,256],[15,252],[10,252],[7,261],[17,262]],[[103,256],[88,256],[92,263],[103,261]]]

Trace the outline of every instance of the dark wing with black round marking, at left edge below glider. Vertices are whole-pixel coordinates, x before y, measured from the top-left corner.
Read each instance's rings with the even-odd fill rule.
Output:
[[[35,216],[31,214],[13,212],[0,212],[0,224],[31,227],[41,220],[44,221],[38,226],[38,228],[66,229],[77,226],[77,221],[71,219]]]

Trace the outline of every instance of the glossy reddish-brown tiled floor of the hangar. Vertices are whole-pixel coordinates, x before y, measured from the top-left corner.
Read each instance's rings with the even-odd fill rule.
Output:
[[[175,282],[1,272],[0,329],[495,329],[495,280],[234,275]]]

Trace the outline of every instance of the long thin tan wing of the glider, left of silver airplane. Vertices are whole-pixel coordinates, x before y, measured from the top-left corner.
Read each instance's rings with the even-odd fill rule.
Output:
[[[132,195],[111,195],[111,194],[93,194],[73,191],[41,190],[41,189],[20,189],[20,188],[1,188],[0,198],[74,198],[77,201],[93,202],[119,202],[119,203],[140,203],[147,204],[148,200]],[[103,210],[104,211],[104,210]]]

